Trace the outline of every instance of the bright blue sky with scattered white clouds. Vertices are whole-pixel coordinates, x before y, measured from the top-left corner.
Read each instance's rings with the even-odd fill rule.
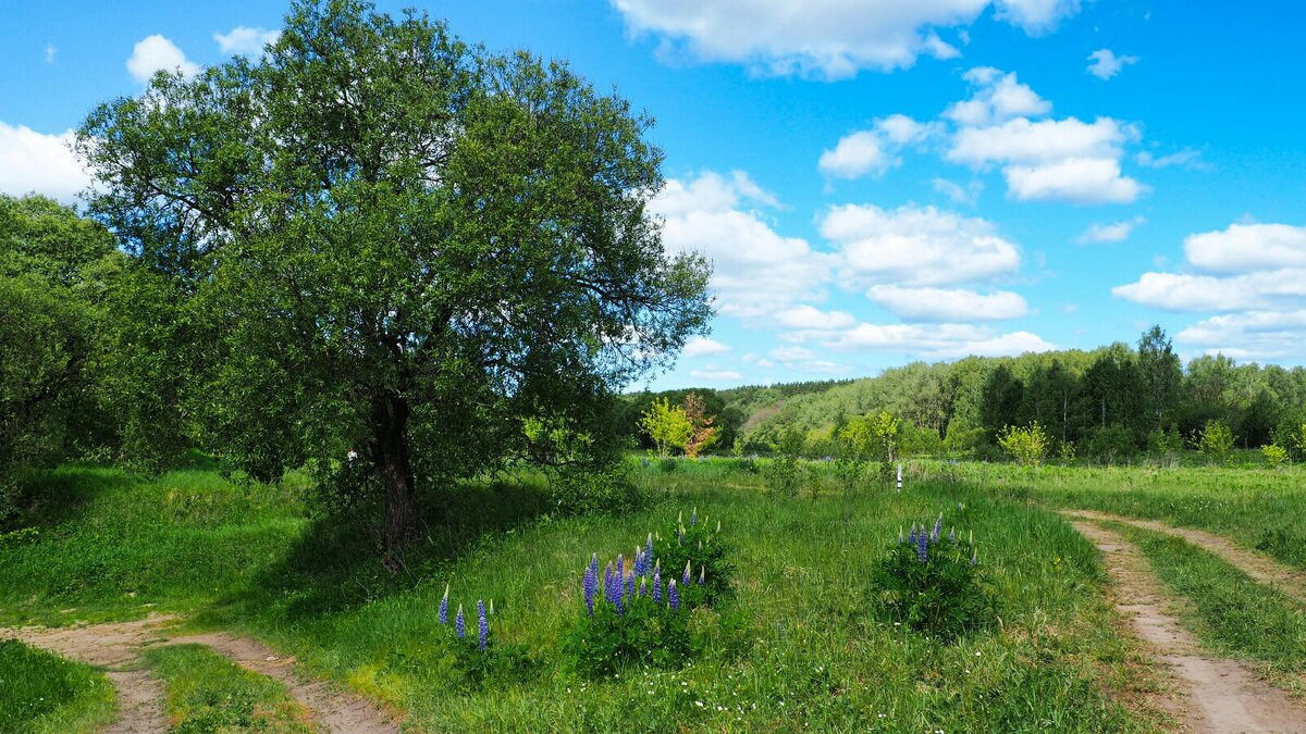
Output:
[[[415,3],[379,3],[397,12]],[[653,388],[1132,342],[1306,363],[1306,10],[1139,0],[460,0],[657,119],[670,249],[718,315]],[[287,4],[22,3],[0,191],[73,201],[63,146],[155,68],[257,52]]]

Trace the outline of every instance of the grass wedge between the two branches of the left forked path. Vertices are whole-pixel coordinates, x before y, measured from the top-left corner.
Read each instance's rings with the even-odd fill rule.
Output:
[[[163,679],[170,730],[178,734],[319,730],[285,686],[202,645],[153,648],[144,661]]]

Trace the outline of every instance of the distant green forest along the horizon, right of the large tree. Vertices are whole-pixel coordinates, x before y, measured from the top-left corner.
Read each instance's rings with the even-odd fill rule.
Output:
[[[980,457],[996,455],[1004,426],[1036,421],[1058,449],[1071,444],[1088,458],[1177,451],[1211,421],[1228,426],[1239,448],[1277,443],[1299,453],[1290,436],[1306,423],[1306,368],[1224,355],[1183,366],[1160,327],[1135,346],[914,362],[861,380],[628,394],[628,436],[649,447],[639,415],[656,398],[678,402],[691,392],[717,417],[716,453],[769,453],[801,431],[808,456],[833,455],[832,436],[848,419],[882,410],[902,419],[908,452]]]

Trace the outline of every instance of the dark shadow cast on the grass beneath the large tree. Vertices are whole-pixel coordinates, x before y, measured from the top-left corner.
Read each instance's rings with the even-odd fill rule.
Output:
[[[438,576],[471,547],[549,511],[545,490],[512,483],[461,486],[419,498],[421,538],[404,568],[381,566],[381,508],[358,505],[311,522],[285,559],[248,586],[218,601],[213,622],[227,616],[310,622],[411,589]]]

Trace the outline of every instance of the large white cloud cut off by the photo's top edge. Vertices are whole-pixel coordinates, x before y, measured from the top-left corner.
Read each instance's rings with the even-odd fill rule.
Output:
[[[921,55],[952,59],[934,29],[969,25],[990,0],[611,0],[660,55],[746,64],[757,73],[848,78],[859,69],[908,68]],[[999,17],[1029,33],[1077,12],[1075,0],[998,0]]]

